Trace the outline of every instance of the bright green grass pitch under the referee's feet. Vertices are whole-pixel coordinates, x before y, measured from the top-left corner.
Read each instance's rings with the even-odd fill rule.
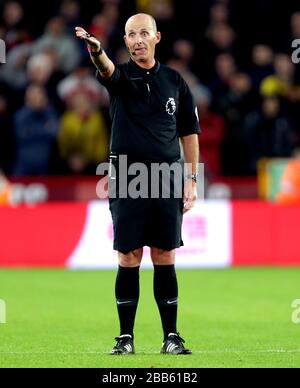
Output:
[[[192,356],[159,354],[152,272],[141,272],[135,356],[108,353],[119,334],[112,271],[0,271],[0,367],[202,368],[300,365],[300,269],[179,270],[179,329]]]

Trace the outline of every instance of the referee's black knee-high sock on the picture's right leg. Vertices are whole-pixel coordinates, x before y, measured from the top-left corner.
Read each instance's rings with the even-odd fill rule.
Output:
[[[170,333],[177,333],[178,283],[174,265],[154,266],[154,296],[166,340]]]

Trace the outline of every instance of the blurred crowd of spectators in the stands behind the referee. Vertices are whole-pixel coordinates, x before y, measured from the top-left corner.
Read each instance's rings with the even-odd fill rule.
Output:
[[[263,157],[300,145],[300,4],[293,0],[0,1],[0,170],[10,176],[94,175],[108,158],[106,90],[75,26],[128,60],[124,24],[151,13],[157,57],[190,85],[208,177],[257,173]]]

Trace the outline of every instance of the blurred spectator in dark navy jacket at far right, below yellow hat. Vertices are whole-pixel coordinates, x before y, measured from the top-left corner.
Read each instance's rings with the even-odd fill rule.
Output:
[[[244,130],[252,174],[256,174],[261,158],[291,156],[294,128],[283,113],[278,97],[264,98],[261,108],[246,117]]]

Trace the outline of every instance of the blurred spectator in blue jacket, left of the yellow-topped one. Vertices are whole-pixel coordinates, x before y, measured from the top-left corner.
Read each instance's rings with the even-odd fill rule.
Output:
[[[30,85],[26,91],[25,106],[14,117],[16,176],[47,175],[58,131],[54,109],[48,104],[43,87]]]

